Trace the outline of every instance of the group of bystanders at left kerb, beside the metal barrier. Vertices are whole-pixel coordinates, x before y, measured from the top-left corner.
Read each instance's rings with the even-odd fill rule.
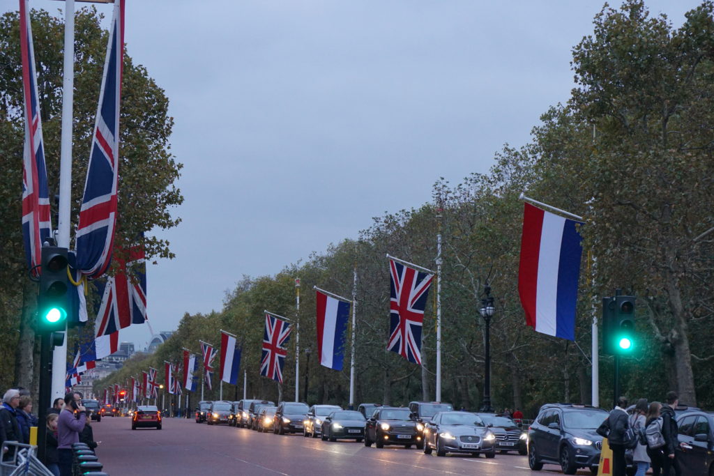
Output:
[[[43,463],[55,476],[71,476],[72,443],[84,442],[92,450],[98,445],[94,441],[91,418],[81,399],[79,392],[68,393],[64,398],[56,398],[52,407],[47,410]],[[0,407],[0,445],[5,441],[30,444],[30,428],[37,425],[38,420],[32,413],[29,391],[22,388],[7,390]],[[12,460],[13,457],[12,449],[6,449],[2,455],[4,461]]]

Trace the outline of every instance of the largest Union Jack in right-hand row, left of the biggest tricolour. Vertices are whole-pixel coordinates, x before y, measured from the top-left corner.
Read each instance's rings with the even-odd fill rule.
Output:
[[[421,325],[434,275],[389,260],[391,302],[387,350],[421,365]]]

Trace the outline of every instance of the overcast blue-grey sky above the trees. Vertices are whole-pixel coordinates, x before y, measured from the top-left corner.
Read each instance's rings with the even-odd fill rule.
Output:
[[[646,4],[680,26],[700,2]],[[184,164],[183,223],[153,231],[176,259],[148,267],[151,328],[220,310],[242,275],[357,238],[372,217],[430,201],[439,177],[458,183],[504,143],[523,146],[568,100],[570,51],[602,5],[127,0],[129,55],[166,90]],[[108,24],[112,6],[97,9]],[[150,337],[146,325],[120,335],[139,349]]]

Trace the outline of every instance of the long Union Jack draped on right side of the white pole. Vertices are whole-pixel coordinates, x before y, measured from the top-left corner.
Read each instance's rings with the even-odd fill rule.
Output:
[[[77,268],[91,278],[106,272],[114,245],[123,46],[124,0],[117,0],[76,233]]]

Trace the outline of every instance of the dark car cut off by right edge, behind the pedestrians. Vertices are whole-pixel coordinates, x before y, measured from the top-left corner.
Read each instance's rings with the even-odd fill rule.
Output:
[[[714,475],[714,413],[688,410],[677,417],[679,443],[677,460],[682,474]]]

